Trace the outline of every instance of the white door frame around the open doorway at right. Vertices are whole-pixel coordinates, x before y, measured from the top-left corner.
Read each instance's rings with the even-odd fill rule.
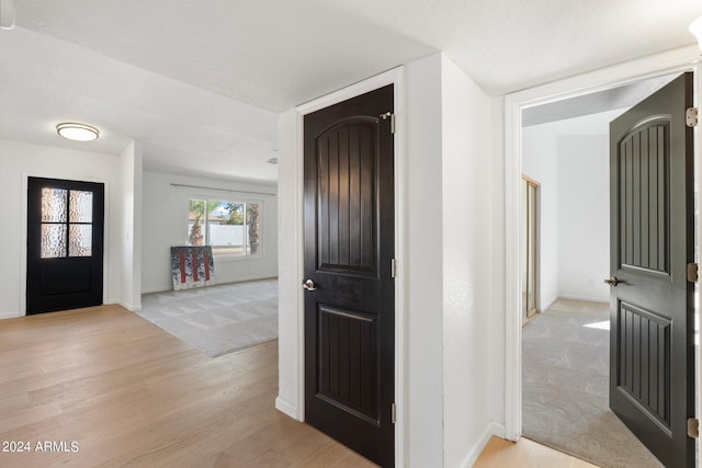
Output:
[[[522,322],[520,313],[521,281],[519,274],[522,267],[519,256],[519,244],[522,236],[519,222],[519,182],[522,174],[522,110],[616,88],[646,78],[690,70],[695,73],[694,105],[700,106],[699,90],[702,89],[700,59],[698,46],[689,46],[505,96],[505,287],[507,313],[505,320],[505,434],[507,438],[518,441],[522,432]],[[700,164],[702,150],[700,142],[702,140],[700,138],[700,126],[698,126],[694,132],[694,159],[698,173],[701,172],[700,167],[702,165]],[[700,202],[702,202],[702,196],[698,194],[698,206],[702,206]],[[699,228],[700,226],[698,226]],[[702,252],[702,239],[698,240],[698,248]],[[700,368],[700,346],[698,345],[695,346],[695,373],[698,379]],[[700,388],[699,381],[695,381],[695,388]],[[701,403],[702,397],[698,396],[697,407],[701,408]],[[702,463],[700,467],[702,467]]]

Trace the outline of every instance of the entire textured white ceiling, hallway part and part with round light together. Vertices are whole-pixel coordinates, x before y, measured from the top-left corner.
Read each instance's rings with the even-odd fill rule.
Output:
[[[73,145],[50,129],[79,119],[104,135],[81,148],[137,138],[147,169],[268,181],[276,113],[404,62],[443,50],[501,95],[694,44],[702,14],[702,0],[15,2],[0,138]]]

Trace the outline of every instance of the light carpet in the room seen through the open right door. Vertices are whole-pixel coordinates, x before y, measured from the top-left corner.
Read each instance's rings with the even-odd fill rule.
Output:
[[[524,326],[523,435],[604,468],[661,467],[609,409],[608,322],[608,304],[558,299]]]

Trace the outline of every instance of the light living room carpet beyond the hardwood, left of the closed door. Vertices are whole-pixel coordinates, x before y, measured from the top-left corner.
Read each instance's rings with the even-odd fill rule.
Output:
[[[145,294],[137,313],[216,357],[278,338],[278,279]]]

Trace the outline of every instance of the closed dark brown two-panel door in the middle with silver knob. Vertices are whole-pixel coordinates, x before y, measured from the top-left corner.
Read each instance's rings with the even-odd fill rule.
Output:
[[[305,419],[394,465],[393,87],[305,117]]]

